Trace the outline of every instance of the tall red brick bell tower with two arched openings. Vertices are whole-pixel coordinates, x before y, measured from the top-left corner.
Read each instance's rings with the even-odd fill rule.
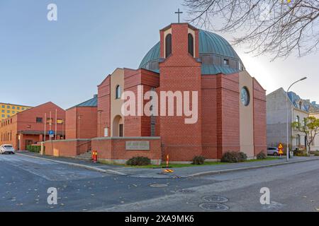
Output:
[[[177,102],[174,102],[175,116],[160,116],[160,136],[164,150],[163,159],[169,154],[172,161],[191,161],[202,154],[201,145],[201,64],[188,52],[189,32],[195,33],[194,45],[198,49],[198,30],[187,23],[172,24],[161,30],[161,55],[164,58],[164,40],[168,32],[172,34],[172,55],[159,64],[159,92],[192,91],[198,92],[198,121],[185,124],[184,114],[176,116]],[[183,100],[184,102],[184,100]],[[160,103],[163,104],[162,102]]]

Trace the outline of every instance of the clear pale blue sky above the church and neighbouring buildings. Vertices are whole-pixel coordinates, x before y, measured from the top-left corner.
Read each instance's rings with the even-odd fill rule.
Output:
[[[0,102],[62,108],[84,102],[118,67],[137,69],[159,41],[159,30],[177,22],[182,0],[0,0]],[[57,21],[47,5],[57,5]],[[230,34],[220,34],[229,42]],[[267,90],[292,90],[319,102],[318,53],[270,61],[235,47],[247,71]]]

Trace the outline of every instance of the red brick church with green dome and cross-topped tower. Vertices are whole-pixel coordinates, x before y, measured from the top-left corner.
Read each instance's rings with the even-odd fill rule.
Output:
[[[188,23],[173,23],[159,37],[139,69],[116,69],[98,86],[93,119],[98,137],[91,139],[91,149],[115,162],[140,155],[159,162],[167,154],[174,162],[188,162],[195,155],[218,160],[227,151],[248,157],[266,151],[265,90],[245,71],[233,47]],[[143,94],[153,90],[158,96],[162,91],[196,91],[196,123],[186,124],[184,114],[123,116],[121,95],[138,95],[141,86]]]

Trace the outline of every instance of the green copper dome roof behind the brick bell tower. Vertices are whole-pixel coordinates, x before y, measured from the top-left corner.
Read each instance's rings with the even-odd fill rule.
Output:
[[[140,63],[140,69],[159,73],[159,47],[155,44]],[[233,47],[220,35],[205,30],[199,30],[199,57],[201,58],[201,73],[230,74],[245,70],[240,57]]]

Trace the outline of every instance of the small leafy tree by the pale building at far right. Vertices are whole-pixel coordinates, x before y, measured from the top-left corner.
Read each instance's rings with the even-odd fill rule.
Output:
[[[310,144],[315,140],[315,136],[319,134],[319,119],[315,117],[307,117],[303,119],[303,124],[294,121],[291,125],[293,129],[298,129],[306,136],[307,141],[307,154],[310,152]]]

